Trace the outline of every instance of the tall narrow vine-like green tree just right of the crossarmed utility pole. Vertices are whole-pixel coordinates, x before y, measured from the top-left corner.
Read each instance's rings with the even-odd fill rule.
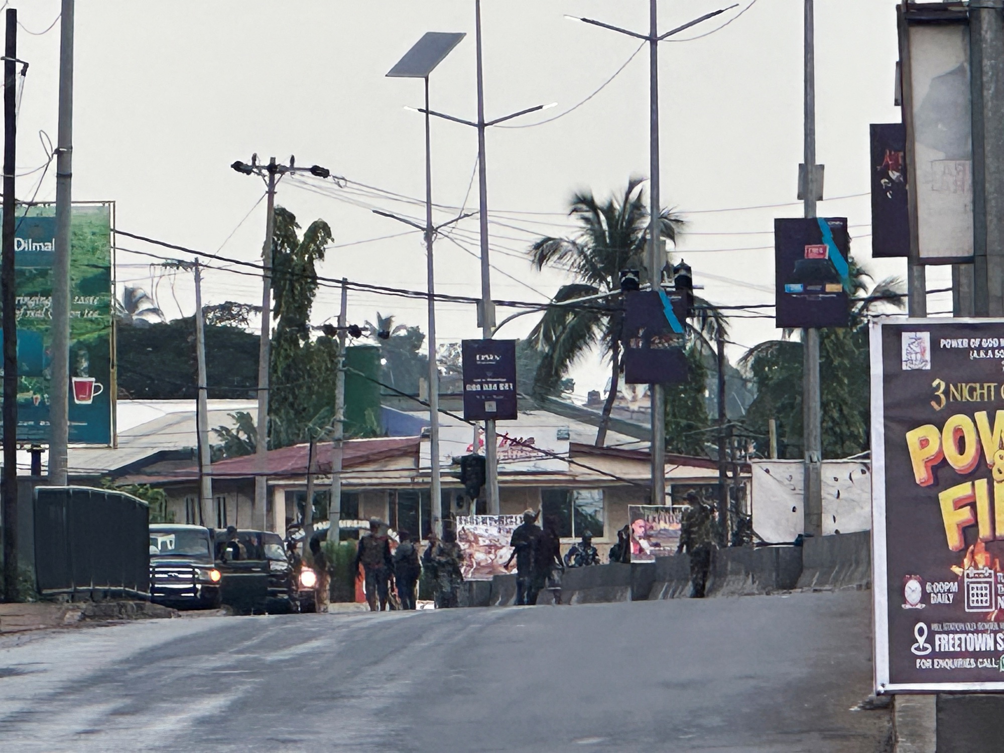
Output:
[[[273,317],[268,441],[272,449],[306,441],[311,431],[334,416],[338,343],[321,335],[311,339],[310,309],[317,293],[316,263],[324,259],[331,229],[315,220],[303,237],[296,217],[275,210],[272,246]]]

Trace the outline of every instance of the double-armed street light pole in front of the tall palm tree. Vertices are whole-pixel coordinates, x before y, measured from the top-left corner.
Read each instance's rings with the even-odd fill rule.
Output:
[[[649,268],[649,282],[652,285],[653,290],[660,289],[662,284],[663,269],[663,264],[661,264],[660,261],[663,263],[666,262],[665,259],[660,259],[662,254],[662,223],[660,221],[661,210],[659,191],[659,43],[674,34],[683,31],[684,29],[696,26],[702,21],[706,21],[709,18],[713,18],[721,13],[724,13],[730,8],[735,7],[735,5],[730,5],[728,8],[722,8],[721,10],[706,13],[700,18],[695,18],[693,21],[688,21],[681,26],[667,31],[665,34],[659,33],[659,9],[657,7],[657,0],[649,0],[648,34],[640,34],[636,31],[621,29],[617,26],[611,26],[610,24],[595,21],[591,18],[566,16],[566,18],[572,21],[582,21],[583,23],[599,26],[603,29],[616,31],[620,34],[626,34],[628,36],[633,36],[636,39],[644,39],[649,42],[649,147],[651,159],[649,166],[649,195],[651,199],[651,209],[649,217],[650,226],[647,266]],[[652,401],[652,504],[665,505],[666,392],[662,385],[650,385],[649,395]]]

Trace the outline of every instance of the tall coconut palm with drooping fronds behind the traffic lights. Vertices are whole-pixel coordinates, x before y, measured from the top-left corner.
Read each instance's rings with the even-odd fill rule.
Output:
[[[568,214],[578,223],[574,238],[540,238],[530,248],[531,262],[538,270],[555,266],[570,270],[576,282],[562,285],[552,301],[564,301],[614,293],[620,289],[620,270],[644,269],[649,239],[649,211],[643,179],[632,178],[620,196],[604,203],[591,192],[572,196]],[[669,210],[660,213],[660,233],[676,242],[683,220]],[[553,393],[568,367],[592,345],[599,345],[610,359],[610,390],[596,432],[596,446],[606,439],[606,429],[616,399],[620,373],[622,307],[608,299],[581,307],[548,308],[530,332],[531,344],[543,353],[534,378],[534,393]]]

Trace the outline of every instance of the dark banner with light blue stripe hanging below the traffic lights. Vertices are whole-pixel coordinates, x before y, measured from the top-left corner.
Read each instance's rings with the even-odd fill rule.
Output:
[[[663,290],[624,294],[623,364],[629,385],[687,382],[687,302]]]

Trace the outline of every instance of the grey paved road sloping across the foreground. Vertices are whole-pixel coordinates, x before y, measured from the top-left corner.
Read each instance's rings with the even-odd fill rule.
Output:
[[[0,641],[30,751],[886,750],[867,592],[204,617]]]

